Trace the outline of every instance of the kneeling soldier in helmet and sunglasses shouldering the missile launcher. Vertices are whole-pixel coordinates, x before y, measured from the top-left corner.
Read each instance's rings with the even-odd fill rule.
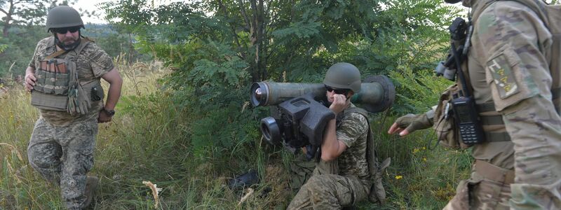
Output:
[[[341,209],[365,200],[370,193],[366,159],[370,127],[359,113],[343,114],[355,107],[350,97],[360,91],[360,72],[352,64],[337,63],[327,71],[323,83],[332,103],[329,109],[339,120],[327,123],[321,160],[288,209]]]

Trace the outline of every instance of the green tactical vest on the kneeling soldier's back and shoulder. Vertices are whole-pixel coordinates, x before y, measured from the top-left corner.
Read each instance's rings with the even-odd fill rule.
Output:
[[[370,121],[368,120],[368,112],[364,109],[358,107],[349,107],[343,111],[340,115],[342,118],[350,116],[351,113],[359,113],[366,118],[368,123],[368,134],[366,138],[366,162],[368,164],[368,172],[370,173],[370,179],[372,180],[372,186],[370,186],[370,195],[368,195],[368,200],[370,202],[379,202],[381,204],[386,200],[386,190],[381,183],[381,176],[384,174],[384,170],[390,165],[391,159],[386,158],[381,164],[378,162],[376,157],[375,149],[376,145],[374,143],[374,136],[372,135],[372,130],[370,130]],[[342,120],[337,119],[337,127],[339,127],[339,122]]]

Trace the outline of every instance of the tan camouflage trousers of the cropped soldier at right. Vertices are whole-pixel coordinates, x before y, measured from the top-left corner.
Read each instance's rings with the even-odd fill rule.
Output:
[[[476,167],[478,164],[487,167]],[[460,181],[456,195],[444,210],[509,209],[508,200],[511,198],[513,179],[512,170],[501,169],[477,160],[472,167],[471,178]]]

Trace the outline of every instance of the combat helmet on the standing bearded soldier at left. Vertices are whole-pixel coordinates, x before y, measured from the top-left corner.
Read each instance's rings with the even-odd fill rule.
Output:
[[[82,18],[80,18],[80,14],[74,8],[61,5],[55,6],[55,8],[48,11],[47,31],[54,28],[76,26],[84,28]]]

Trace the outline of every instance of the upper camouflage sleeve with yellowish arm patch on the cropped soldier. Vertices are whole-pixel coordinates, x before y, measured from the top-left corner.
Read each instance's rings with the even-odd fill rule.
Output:
[[[496,1],[475,22],[473,48],[486,66],[497,111],[524,99],[551,97],[552,79],[543,54],[552,35],[534,11],[515,1]]]

